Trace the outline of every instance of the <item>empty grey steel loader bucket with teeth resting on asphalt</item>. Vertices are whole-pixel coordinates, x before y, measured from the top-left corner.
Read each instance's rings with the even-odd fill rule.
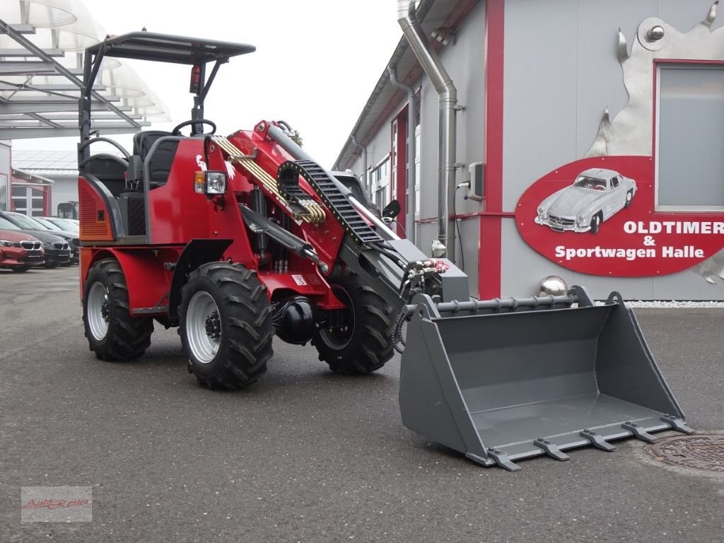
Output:
[[[484,466],[675,429],[683,413],[618,293],[435,303],[418,296],[400,372],[403,424]],[[408,306],[412,308],[412,306]]]

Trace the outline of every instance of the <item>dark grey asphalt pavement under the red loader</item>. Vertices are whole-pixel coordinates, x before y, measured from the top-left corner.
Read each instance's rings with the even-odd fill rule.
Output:
[[[482,468],[404,429],[399,358],[331,374],[275,340],[238,392],[196,384],[175,329],[96,360],[77,266],[0,270],[0,542],[722,542],[724,473],[636,440]],[[724,310],[637,309],[697,431],[724,430]],[[22,523],[21,487],[93,489],[92,521]]]

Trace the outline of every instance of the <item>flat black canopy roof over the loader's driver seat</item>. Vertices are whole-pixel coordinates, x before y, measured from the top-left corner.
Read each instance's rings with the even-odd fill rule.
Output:
[[[86,51],[122,59],[173,62],[174,64],[203,64],[225,61],[231,56],[253,53],[256,47],[245,43],[189,38],[188,36],[132,32],[106,38]]]

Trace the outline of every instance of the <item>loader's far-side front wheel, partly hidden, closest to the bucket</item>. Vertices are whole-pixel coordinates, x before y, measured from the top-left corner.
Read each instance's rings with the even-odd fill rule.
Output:
[[[319,360],[340,374],[363,375],[382,368],[393,354],[395,311],[352,271],[330,278],[329,285],[348,307],[342,327],[323,327],[314,334]]]

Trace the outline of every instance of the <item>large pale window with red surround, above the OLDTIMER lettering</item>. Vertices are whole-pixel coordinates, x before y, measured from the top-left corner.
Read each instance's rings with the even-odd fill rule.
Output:
[[[657,69],[656,209],[724,210],[724,66]]]

